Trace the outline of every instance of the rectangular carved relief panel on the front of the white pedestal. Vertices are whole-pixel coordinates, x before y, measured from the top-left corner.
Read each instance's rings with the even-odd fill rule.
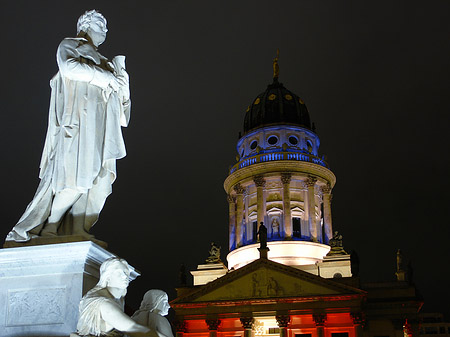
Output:
[[[6,326],[64,323],[66,288],[8,291]]]

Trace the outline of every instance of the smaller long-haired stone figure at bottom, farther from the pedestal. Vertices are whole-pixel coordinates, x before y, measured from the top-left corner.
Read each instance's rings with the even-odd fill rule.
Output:
[[[163,317],[169,313],[169,297],[158,289],[145,293],[139,310],[131,318],[141,325],[156,331],[159,336],[173,337],[169,321]]]

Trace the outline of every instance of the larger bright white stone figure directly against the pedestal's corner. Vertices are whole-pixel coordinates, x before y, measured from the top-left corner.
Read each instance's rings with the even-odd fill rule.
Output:
[[[130,282],[128,263],[113,257],[102,263],[100,280],[80,301],[77,334],[71,336],[158,337],[154,330],[140,325],[124,312],[124,299]],[[160,336],[162,337],[162,336]]]

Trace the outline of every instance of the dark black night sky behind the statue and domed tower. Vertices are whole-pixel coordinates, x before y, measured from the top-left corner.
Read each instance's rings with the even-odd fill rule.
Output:
[[[425,309],[450,314],[450,3],[433,1],[14,1],[2,5],[2,224],[38,185],[59,42],[96,8],[101,52],[127,56],[128,155],[97,238],[142,272],[129,288],[173,299],[179,265],[216,241],[227,253],[223,190],[244,112],[271,81],[306,102],[337,176],[334,228],[363,281],[394,279],[401,248]]]

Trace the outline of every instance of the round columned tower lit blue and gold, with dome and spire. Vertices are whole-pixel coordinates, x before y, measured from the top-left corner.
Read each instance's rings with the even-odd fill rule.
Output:
[[[236,163],[224,189],[229,202],[229,268],[258,259],[258,233],[267,232],[268,258],[315,270],[330,250],[331,190],[336,177],[319,154],[303,100],[278,81],[248,107]]]

